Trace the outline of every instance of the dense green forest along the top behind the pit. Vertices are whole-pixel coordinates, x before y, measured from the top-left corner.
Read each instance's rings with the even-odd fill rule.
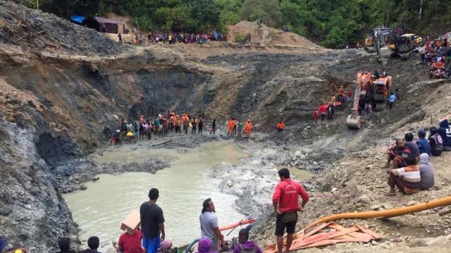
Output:
[[[142,30],[226,32],[260,18],[290,27],[324,47],[362,43],[372,27],[405,27],[437,37],[451,27],[451,1],[440,0],[14,0],[68,18],[73,14],[130,16]],[[39,6],[38,6],[39,5]]]

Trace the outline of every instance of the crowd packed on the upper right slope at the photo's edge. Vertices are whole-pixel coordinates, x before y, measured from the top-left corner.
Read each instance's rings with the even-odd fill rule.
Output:
[[[427,37],[424,50],[421,52],[421,63],[429,68],[429,78],[451,79],[451,47],[447,36],[431,41]]]

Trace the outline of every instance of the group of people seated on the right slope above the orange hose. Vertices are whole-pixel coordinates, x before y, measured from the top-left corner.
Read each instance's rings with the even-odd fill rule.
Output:
[[[433,165],[429,156],[440,156],[443,151],[451,151],[451,127],[444,119],[439,128],[431,126],[428,138],[426,131],[418,131],[418,140],[414,142],[414,135],[408,132],[404,140],[398,139],[393,147],[387,150],[388,190],[385,195],[395,196],[395,187],[404,194],[413,194],[419,190],[428,190],[434,185]]]

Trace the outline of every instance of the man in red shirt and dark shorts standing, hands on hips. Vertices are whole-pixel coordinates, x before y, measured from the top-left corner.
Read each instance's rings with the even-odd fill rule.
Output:
[[[293,241],[293,234],[297,223],[297,211],[302,211],[305,204],[309,201],[309,195],[302,185],[292,181],[288,168],[282,168],[278,171],[280,183],[276,185],[273,194],[273,206],[276,211],[276,233],[277,236],[277,253],[282,253],[283,234],[287,228],[287,245],[285,253],[290,251]],[[302,197],[302,204],[299,206],[299,195]]]

